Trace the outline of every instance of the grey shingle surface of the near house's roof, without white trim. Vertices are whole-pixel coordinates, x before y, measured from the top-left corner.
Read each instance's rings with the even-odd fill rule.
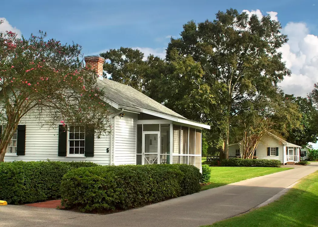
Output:
[[[131,107],[135,109],[147,109],[163,114],[168,114],[177,118],[183,118],[182,115],[170,110],[159,102],[149,98],[147,95],[137,91],[131,86],[127,86],[110,79],[98,79],[97,85],[102,88],[107,99],[115,102],[121,107]]]

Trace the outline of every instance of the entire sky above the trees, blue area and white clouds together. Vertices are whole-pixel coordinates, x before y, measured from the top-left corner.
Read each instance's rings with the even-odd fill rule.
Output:
[[[280,86],[285,93],[306,97],[318,82],[318,0],[3,1],[0,19],[5,23],[0,31],[13,30],[26,37],[46,31],[62,43],[78,43],[84,55],[124,46],[164,57],[169,37],[177,37],[183,24],[213,20],[218,10],[231,7],[259,17],[277,13],[282,33],[289,38],[279,51],[292,70]]]

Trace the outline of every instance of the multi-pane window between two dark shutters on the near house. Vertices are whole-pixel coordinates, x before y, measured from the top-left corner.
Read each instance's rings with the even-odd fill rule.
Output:
[[[85,154],[85,126],[71,126],[68,134],[68,154],[70,156],[84,156]]]

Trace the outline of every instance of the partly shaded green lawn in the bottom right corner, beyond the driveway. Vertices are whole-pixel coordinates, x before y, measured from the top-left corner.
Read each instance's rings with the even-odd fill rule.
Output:
[[[209,226],[312,227],[318,226],[317,210],[318,171],[303,178],[279,200],[247,214],[232,217]]]

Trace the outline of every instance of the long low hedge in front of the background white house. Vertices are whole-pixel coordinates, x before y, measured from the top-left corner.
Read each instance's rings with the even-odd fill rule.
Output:
[[[221,166],[280,167],[280,160],[231,158],[222,160]]]

